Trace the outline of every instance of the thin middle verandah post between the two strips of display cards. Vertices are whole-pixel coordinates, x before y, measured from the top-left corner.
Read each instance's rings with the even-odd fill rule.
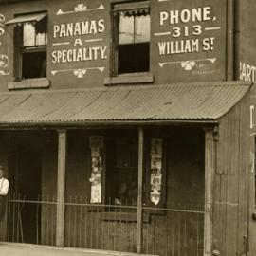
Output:
[[[144,148],[144,131],[138,128],[138,177],[137,177],[137,253],[142,249],[142,194],[143,194],[143,148]]]

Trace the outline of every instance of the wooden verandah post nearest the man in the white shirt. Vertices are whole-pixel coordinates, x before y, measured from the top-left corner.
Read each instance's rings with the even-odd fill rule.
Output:
[[[64,247],[64,192],[65,192],[65,156],[66,131],[59,130],[58,141],[58,184],[57,184],[57,230],[56,246]]]

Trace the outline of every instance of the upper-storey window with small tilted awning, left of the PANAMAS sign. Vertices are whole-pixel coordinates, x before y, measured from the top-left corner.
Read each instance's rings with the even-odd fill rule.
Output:
[[[15,27],[15,77],[17,80],[46,77],[46,13],[16,16],[7,25]]]

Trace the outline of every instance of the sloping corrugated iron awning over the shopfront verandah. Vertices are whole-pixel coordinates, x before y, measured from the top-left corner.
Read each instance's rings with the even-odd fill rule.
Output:
[[[208,82],[0,93],[0,125],[216,120],[249,87]]]

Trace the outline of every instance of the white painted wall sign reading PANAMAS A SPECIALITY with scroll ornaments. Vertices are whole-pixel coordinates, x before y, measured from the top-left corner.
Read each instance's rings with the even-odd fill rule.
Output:
[[[89,70],[104,71],[105,66],[92,64],[99,64],[107,59],[107,46],[103,45],[102,38],[106,27],[105,19],[101,16],[97,18],[97,15],[83,14],[102,9],[103,4],[92,9],[78,4],[71,10],[57,10],[56,15],[64,18],[52,27],[52,46],[55,48],[51,52],[51,64],[65,66],[64,64],[77,63],[79,67],[53,69],[52,75],[72,71],[76,77],[82,78]]]

